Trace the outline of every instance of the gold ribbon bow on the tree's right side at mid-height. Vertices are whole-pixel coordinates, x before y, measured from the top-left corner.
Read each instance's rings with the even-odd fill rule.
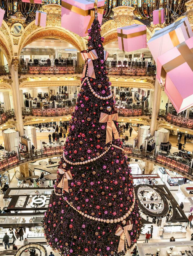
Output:
[[[117,121],[119,119],[118,114],[108,115],[101,112],[99,122],[100,123],[107,123],[106,126],[106,144],[112,141],[112,133],[115,139],[119,139],[119,133],[113,121]]]

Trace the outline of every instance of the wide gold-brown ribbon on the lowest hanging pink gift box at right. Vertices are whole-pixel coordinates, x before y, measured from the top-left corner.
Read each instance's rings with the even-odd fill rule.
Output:
[[[164,87],[167,73],[173,70],[174,68],[177,68],[179,65],[182,65],[185,62],[187,62],[187,64],[189,65],[193,72],[193,48],[189,49],[185,42],[178,44],[176,47],[180,52],[180,55],[174,58],[173,60],[170,60],[166,64],[162,65],[161,68],[160,80]]]

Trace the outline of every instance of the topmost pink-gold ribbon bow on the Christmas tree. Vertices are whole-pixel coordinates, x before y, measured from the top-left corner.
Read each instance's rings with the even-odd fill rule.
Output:
[[[87,60],[85,65],[84,65],[83,72],[82,72],[82,78],[86,74],[86,68],[87,68],[87,65],[88,65],[88,76],[96,79],[95,70],[94,70],[94,66],[93,66],[93,63],[92,63],[93,60],[98,59],[98,55],[96,53],[96,50],[92,50],[90,52],[87,52],[87,50],[81,51],[81,56],[82,56],[82,59]]]

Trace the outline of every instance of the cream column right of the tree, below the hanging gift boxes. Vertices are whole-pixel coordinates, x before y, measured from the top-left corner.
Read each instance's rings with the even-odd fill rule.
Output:
[[[161,91],[162,91],[162,88],[156,79],[155,87],[154,87],[154,100],[153,100],[153,106],[152,106],[151,125],[150,125],[150,133],[152,135],[154,134],[154,131],[157,129],[157,117],[159,115]]]

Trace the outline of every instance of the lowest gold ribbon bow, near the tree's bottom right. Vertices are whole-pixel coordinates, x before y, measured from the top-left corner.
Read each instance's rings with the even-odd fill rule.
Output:
[[[115,235],[120,236],[117,253],[125,250],[125,237],[126,237],[128,246],[131,246],[131,239],[130,239],[130,235],[129,235],[128,231],[132,230],[132,228],[133,228],[133,221],[132,220],[128,220],[127,225],[124,226],[123,228],[122,228],[122,226],[117,225]]]

